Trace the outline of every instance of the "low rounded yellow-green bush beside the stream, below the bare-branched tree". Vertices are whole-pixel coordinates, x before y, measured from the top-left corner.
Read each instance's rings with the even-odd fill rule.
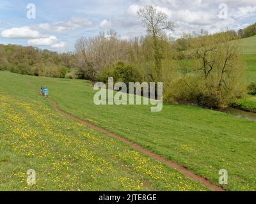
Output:
[[[237,85],[234,90],[227,91],[207,84],[204,78],[195,75],[180,77],[170,82],[164,92],[164,100],[170,103],[189,103],[209,108],[221,108],[234,98],[244,95],[243,86]]]

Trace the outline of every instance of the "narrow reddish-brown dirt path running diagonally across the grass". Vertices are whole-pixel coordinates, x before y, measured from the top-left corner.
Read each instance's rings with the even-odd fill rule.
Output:
[[[95,129],[97,131],[100,131],[101,133],[104,133],[108,136],[111,136],[113,138],[116,138],[117,140],[120,140],[124,143],[127,143],[127,145],[130,145],[131,147],[133,147],[134,149],[138,150],[139,152],[152,157],[153,159],[160,161],[161,163],[167,164],[168,166],[170,166],[171,168],[175,168],[176,170],[180,171],[180,173],[183,173],[184,175],[188,176],[189,178],[195,180],[196,182],[199,182],[200,184],[204,185],[205,187],[207,187],[208,189],[210,189],[211,191],[224,191],[221,187],[218,187],[214,184],[212,184],[211,182],[209,182],[209,180],[205,179],[204,177],[200,177],[198,175],[196,175],[195,173],[189,171],[188,169],[186,169],[184,166],[180,166],[180,164],[177,163],[173,163],[172,161],[169,161],[168,159],[161,157],[157,154],[155,154],[154,152],[151,152],[150,150],[144,149],[143,147],[141,147],[140,145],[136,144],[136,143],[132,143],[129,140],[123,138],[122,136],[118,136],[114,133],[111,133],[109,131],[107,131],[106,129],[102,129],[99,126],[96,126],[95,124],[92,124],[91,122],[87,122],[86,120],[82,120],[79,119],[78,117],[65,112],[64,110],[61,110],[57,103],[55,101],[53,101],[52,99],[48,98],[50,101],[52,101],[54,109],[65,115],[66,117],[69,117],[70,119],[76,120],[77,122],[81,122],[82,124],[88,126],[89,128]]]

